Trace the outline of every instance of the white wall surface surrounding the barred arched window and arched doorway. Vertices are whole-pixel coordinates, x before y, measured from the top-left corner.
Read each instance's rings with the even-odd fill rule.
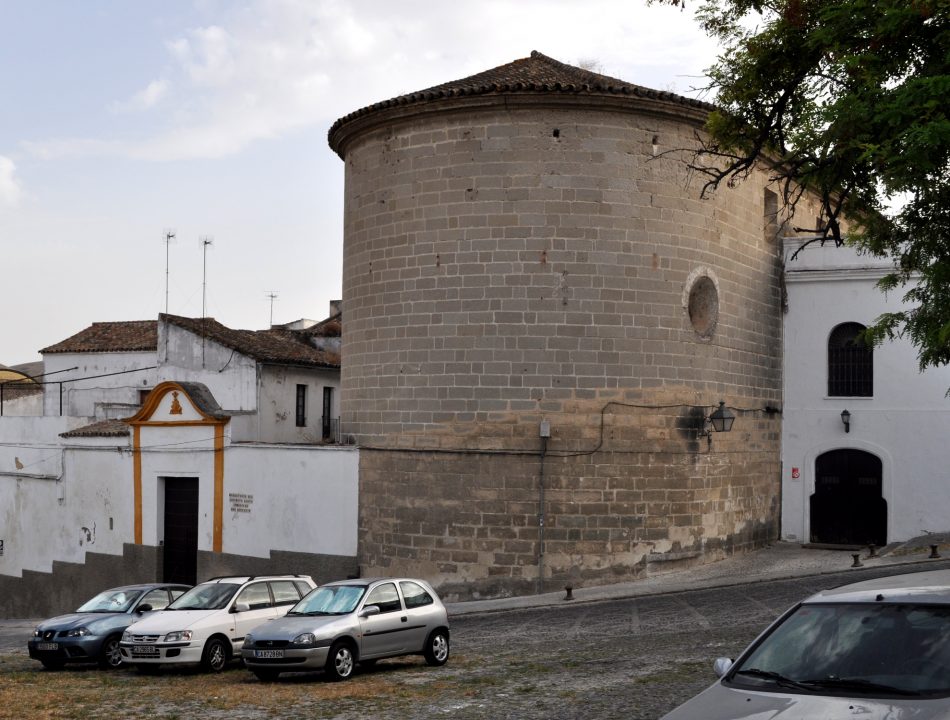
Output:
[[[827,349],[844,322],[870,325],[901,307],[901,292],[885,296],[876,281],[887,263],[850,248],[805,249],[786,241],[788,313],[785,316],[785,400],[782,422],[782,536],[807,541],[808,499],[815,491],[815,459],[840,448],[864,450],[883,464],[888,541],[950,530],[950,369],[919,372],[906,340],[874,350],[874,396],[827,395]],[[851,413],[845,433],[841,411]],[[793,478],[793,473],[798,478]]]

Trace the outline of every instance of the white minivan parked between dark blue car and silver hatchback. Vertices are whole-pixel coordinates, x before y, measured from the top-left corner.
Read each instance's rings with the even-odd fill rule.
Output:
[[[281,617],[316,587],[307,575],[212,578],[122,634],[122,662],[148,671],[201,665],[220,672],[241,656],[244,636]]]

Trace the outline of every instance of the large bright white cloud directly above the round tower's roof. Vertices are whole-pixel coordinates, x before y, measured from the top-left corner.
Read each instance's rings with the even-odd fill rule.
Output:
[[[28,149],[47,158],[217,158],[300,128],[325,130],[371,103],[535,49],[568,63],[592,60],[607,74],[672,90],[674,63],[690,53],[713,57],[708,47],[690,45],[699,36],[692,18],[629,0],[587,0],[583,12],[573,0],[486,0],[474,14],[428,0],[251,0],[215,7],[214,23],[166,39],[159,77],[113,104],[135,111],[143,125],[124,129],[121,141],[54,138]],[[656,32],[660,23],[693,26],[692,35],[684,30],[675,61],[669,61],[668,32]]]

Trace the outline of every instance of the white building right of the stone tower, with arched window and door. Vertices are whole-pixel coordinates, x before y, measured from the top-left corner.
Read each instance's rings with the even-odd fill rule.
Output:
[[[950,528],[950,368],[919,372],[907,340],[855,336],[901,307],[888,261],[785,241],[782,537],[864,546]]]

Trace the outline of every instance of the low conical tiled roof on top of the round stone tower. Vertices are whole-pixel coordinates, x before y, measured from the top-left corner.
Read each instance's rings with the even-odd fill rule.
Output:
[[[330,127],[328,137],[330,146],[339,152],[335,134],[351,120],[385,110],[391,107],[424,104],[447,98],[461,98],[473,95],[512,95],[512,94],[560,93],[571,95],[613,95],[636,96],[663,100],[682,105],[684,108],[697,108],[705,111],[712,105],[701,100],[686,98],[675,93],[651,90],[642,85],[634,85],[607,75],[567,65],[554,58],[531,52],[530,57],[521,58],[507,65],[486,70],[461,80],[436,85],[426,90],[400,95],[399,97],[374,103],[356,110],[337,120]]]

